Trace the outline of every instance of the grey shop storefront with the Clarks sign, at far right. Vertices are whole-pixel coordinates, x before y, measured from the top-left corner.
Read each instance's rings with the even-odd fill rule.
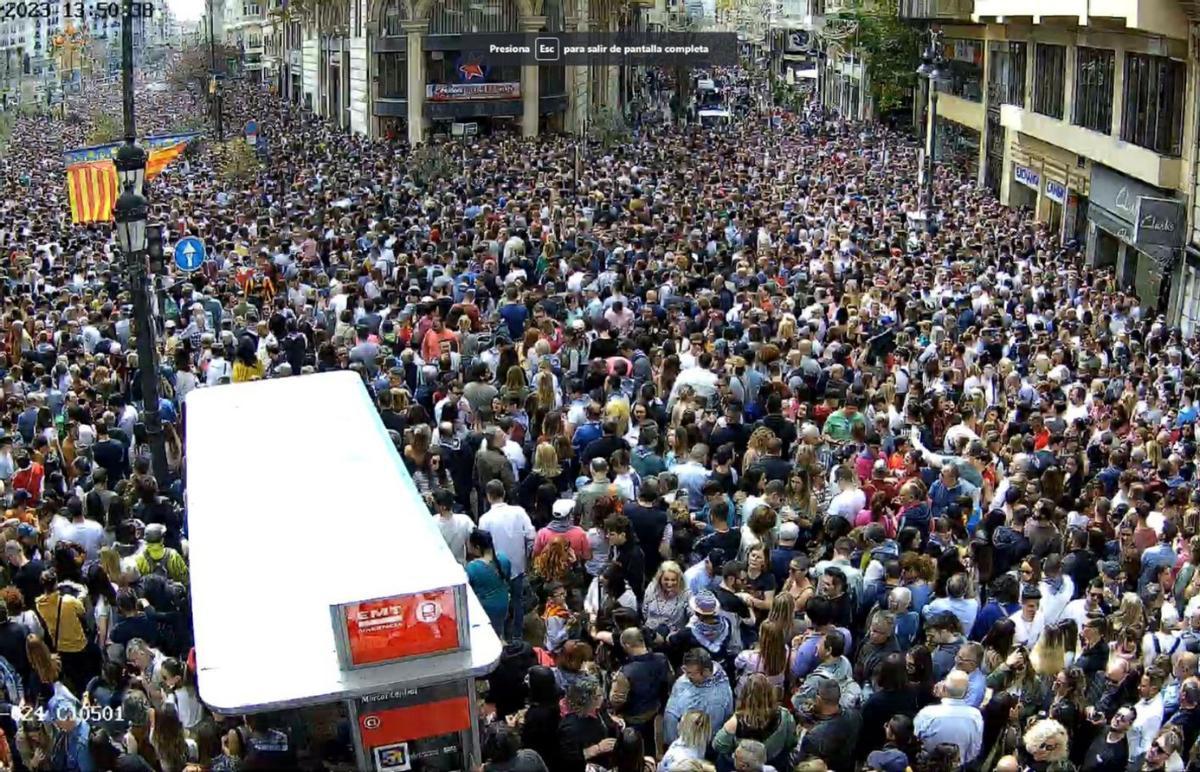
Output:
[[[1186,204],[1171,191],[1093,164],[1087,223],[1088,262],[1115,267],[1121,286],[1134,289],[1144,307],[1165,310],[1184,243]]]

